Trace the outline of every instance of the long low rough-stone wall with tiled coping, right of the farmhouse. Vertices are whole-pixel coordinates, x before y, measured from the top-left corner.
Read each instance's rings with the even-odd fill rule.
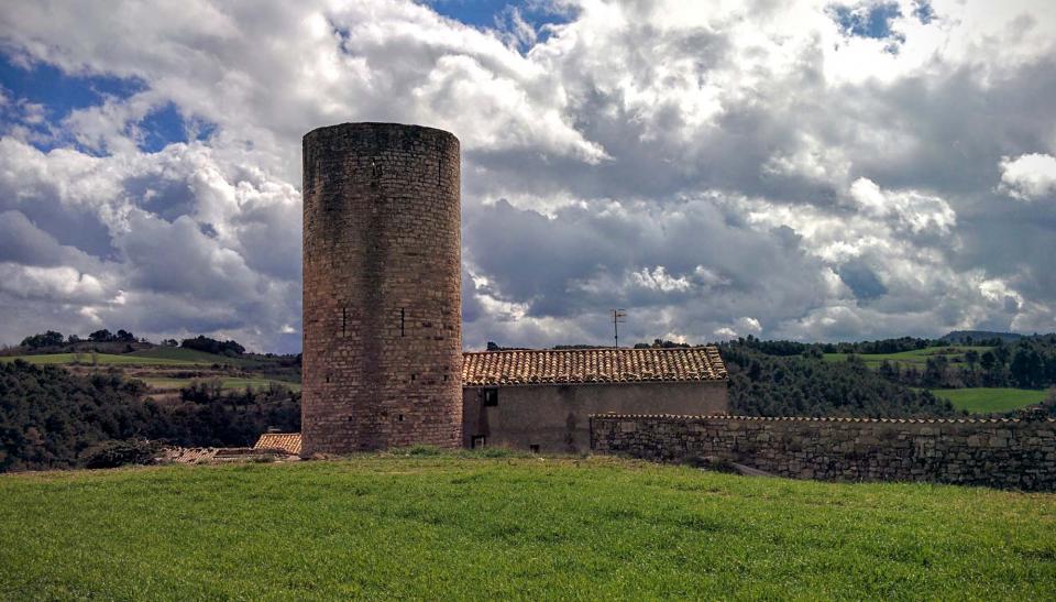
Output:
[[[591,416],[591,448],[714,457],[771,474],[1056,490],[1056,420]]]

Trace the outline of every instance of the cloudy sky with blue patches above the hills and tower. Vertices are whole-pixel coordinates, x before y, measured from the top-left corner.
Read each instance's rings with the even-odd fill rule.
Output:
[[[300,349],[300,138],[462,142],[463,346],[1056,330],[1049,0],[0,12],[0,343]]]

